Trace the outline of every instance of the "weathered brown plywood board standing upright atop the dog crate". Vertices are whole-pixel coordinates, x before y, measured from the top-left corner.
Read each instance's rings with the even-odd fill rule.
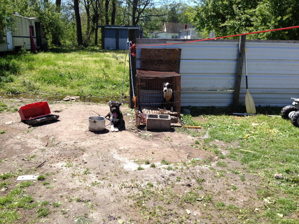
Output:
[[[180,73],[181,48],[141,48],[141,69]]]

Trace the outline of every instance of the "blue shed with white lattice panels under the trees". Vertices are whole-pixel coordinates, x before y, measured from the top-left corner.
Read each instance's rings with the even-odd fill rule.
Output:
[[[126,50],[127,40],[143,38],[141,26],[105,25],[101,27],[102,49]]]

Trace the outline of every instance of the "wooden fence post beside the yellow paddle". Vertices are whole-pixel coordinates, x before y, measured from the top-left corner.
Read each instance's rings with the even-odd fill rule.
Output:
[[[236,112],[239,104],[245,42],[246,42],[246,35],[240,36],[237,71],[236,71],[236,79],[235,79],[236,81],[235,81],[234,98],[233,98],[233,112]]]

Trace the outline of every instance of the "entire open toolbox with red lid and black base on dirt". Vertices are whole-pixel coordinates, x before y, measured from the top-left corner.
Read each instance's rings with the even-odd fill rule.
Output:
[[[58,119],[58,115],[51,114],[48,102],[36,102],[22,106],[18,110],[21,121],[35,125],[41,122]]]

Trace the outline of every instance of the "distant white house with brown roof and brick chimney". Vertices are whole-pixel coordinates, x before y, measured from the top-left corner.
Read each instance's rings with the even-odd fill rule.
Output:
[[[175,39],[179,37],[179,31],[187,28],[192,28],[192,24],[184,23],[164,23],[162,31],[154,32],[155,38]]]

